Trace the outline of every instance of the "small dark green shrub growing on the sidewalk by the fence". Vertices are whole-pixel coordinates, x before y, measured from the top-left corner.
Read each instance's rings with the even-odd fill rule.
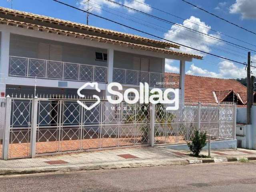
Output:
[[[204,146],[206,146],[206,132],[200,132],[199,134],[199,131],[196,130],[192,142],[188,143],[188,147],[194,156],[199,156]]]

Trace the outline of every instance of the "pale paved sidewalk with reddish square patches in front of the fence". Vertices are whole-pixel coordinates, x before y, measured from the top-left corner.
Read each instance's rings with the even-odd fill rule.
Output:
[[[256,160],[256,151],[245,149],[212,150],[211,159],[194,158],[188,154],[190,152],[184,150],[141,147],[0,160],[0,175],[228,162],[238,161],[242,157]],[[202,154],[207,155],[208,151],[203,150]]]

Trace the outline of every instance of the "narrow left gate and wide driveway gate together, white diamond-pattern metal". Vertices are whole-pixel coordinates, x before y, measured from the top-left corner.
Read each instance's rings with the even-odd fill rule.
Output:
[[[101,101],[86,110],[76,99],[7,98],[8,158],[149,145],[149,105]],[[87,106],[93,100],[80,100]]]

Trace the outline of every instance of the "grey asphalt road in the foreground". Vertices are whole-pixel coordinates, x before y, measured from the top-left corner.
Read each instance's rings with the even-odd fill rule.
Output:
[[[256,191],[256,163],[220,163],[0,177],[1,192]]]

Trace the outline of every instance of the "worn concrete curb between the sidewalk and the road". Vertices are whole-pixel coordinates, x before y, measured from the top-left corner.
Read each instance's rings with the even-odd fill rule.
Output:
[[[71,172],[83,170],[102,170],[102,169],[120,169],[120,168],[138,168],[138,167],[152,167],[152,166],[172,166],[172,165],[187,165],[187,164],[204,164],[204,163],[221,163],[221,162],[239,162],[241,158],[246,160],[256,160],[256,157],[231,157],[231,158],[198,158],[193,160],[158,160],[152,163],[139,162],[139,163],[120,163],[120,164],[99,164],[90,166],[70,166],[66,168],[44,168],[44,169],[30,169],[30,170],[0,170],[0,175],[13,175],[13,174],[35,174],[46,172]]]

